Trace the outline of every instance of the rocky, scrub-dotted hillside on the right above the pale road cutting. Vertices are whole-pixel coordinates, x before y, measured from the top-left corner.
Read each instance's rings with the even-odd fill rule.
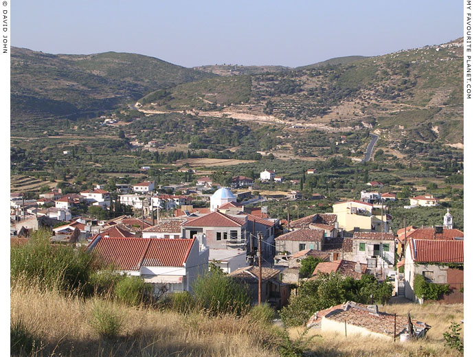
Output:
[[[192,84],[186,100],[180,97],[179,106],[174,105],[173,95],[158,104],[160,110],[168,105],[171,110],[195,109],[205,116],[326,131],[372,128],[402,146],[405,139],[462,143],[462,56],[460,38],[372,58],[351,56],[341,64],[334,59],[321,66],[253,74],[247,101],[234,100],[247,97],[247,86],[236,88],[232,81],[221,81],[219,99],[213,100],[209,93],[216,87],[210,89],[207,81],[201,81]],[[181,89],[170,93],[176,91]],[[142,109],[156,108],[148,104]]]

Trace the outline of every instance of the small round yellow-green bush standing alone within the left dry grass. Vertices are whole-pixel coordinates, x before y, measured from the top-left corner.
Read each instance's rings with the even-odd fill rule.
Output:
[[[91,310],[89,325],[99,336],[114,338],[122,332],[124,316],[105,301],[95,301]]]

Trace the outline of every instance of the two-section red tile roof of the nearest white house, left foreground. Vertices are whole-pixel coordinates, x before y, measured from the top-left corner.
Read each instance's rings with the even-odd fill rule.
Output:
[[[94,251],[117,270],[139,270],[140,266],[183,266],[193,239],[102,238]]]

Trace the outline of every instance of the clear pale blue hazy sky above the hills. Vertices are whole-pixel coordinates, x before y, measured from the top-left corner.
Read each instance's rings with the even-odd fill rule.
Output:
[[[12,46],[297,67],[462,36],[462,0],[12,1]]]

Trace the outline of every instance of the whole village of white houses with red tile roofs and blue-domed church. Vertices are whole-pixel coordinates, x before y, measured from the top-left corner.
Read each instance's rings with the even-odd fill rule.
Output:
[[[315,174],[315,170],[306,174]],[[438,301],[464,301],[464,233],[453,228],[455,218],[449,209],[435,227],[405,222],[405,227],[394,232],[386,205],[397,199],[396,194],[381,194],[383,183],[371,181],[359,200],[336,202],[332,213],[293,220],[289,216],[272,218],[264,203],[274,198],[254,196],[251,188],[255,181],[282,180],[274,171],[264,170],[257,180],[235,176],[230,187],[203,176],[194,186],[155,187],[155,182],[144,181],[118,183],[116,192],[95,185],[79,194],[52,189],[36,199],[12,193],[10,240],[12,246],[25,244],[34,231],[51,229],[51,244],[98,253],[114,264],[117,273],[151,284],[155,294],[192,292],[196,279],[217,267],[249,286],[253,305],[267,303],[277,310],[288,305],[301,281],[336,272],[356,280],[372,275],[376,281],[388,282],[391,299],[398,303],[425,303],[426,297],[416,295],[419,276],[427,284],[446,286]],[[173,193],[160,193],[163,189]],[[213,189],[213,194],[203,193]],[[282,203],[300,199],[300,192],[294,190]],[[431,194],[409,201],[405,209],[438,205]],[[71,214],[77,205],[112,211],[117,204],[128,207],[131,214],[109,220]],[[317,263],[303,276],[305,260]],[[346,335],[405,341],[425,336],[430,328],[409,316],[394,321],[394,316],[378,312],[376,305],[354,301],[313,313],[308,327]]]

